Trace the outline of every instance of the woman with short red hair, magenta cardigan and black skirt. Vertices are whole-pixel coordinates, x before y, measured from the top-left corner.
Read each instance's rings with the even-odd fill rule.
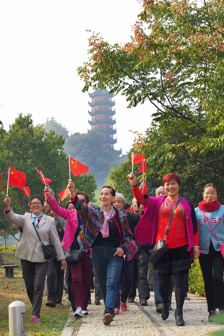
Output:
[[[154,268],[159,276],[159,292],[162,297],[163,320],[169,317],[169,284],[170,276],[174,275],[175,298],[177,309],[175,320],[177,326],[184,326],[183,304],[185,298],[185,274],[191,268],[191,261],[200,255],[198,246],[197,219],[193,204],[182,198],[174,211],[167,236],[165,232],[172,211],[180,196],[180,176],[174,173],[167,174],[162,184],[167,195],[163,197],[143,197],[137,186],[137,179],[133,173],[127,176],[132,185],[135,198],[144,204],[144,214],[140,217],[135,230],[135,237],[139,245],[151,249],[159,239],[166,242],[167,252],[157,262]]]

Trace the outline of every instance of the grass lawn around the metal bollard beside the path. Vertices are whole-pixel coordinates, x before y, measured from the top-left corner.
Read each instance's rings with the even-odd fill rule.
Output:
[[[0,247],[0,252],[3,251],[3,248]],[[15,262],[17,265],[20,265],[20,267],[14,268],[14,278],[6,278],[5,269],[0,267],[0,336],[9,335],[8,305],[16,300],[23,301],[27,305],[26,332],[29,336],[60,335],[68,319],[70,302],[68,300],[62,301],[65,305],[64,307],[46,307],[45,303],[47,302],[47,297],[43,296],[43,303],[40,311],[40,320],[42,323],[33,323],[31,321],[32,305],[28,299],[22,277],[20,259],[15,257],[15,251],[15,247],[6,247],[6,252],[3,253],[5,262]]]

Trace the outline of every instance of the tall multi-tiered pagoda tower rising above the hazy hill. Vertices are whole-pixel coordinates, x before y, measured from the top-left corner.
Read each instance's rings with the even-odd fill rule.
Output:
[[[97,130],[103,134],[105,138],[103,148],[113,150],[114,144],[117,142],[117,138],[113,138],[113,135],[117,132],[117,129],[113,128],[113,125],[116,124],[116,119],[113,119],[115,110],[112,110],[115,105],[115,101],[112,101],[114,93],[109,94],[106,89],[97,89],[93,93],[89,93],[89,97],[92,101],[88,102],[91,107],[91,111],[88,111],[88,113],[92,118],[88,122],[92,130]]]

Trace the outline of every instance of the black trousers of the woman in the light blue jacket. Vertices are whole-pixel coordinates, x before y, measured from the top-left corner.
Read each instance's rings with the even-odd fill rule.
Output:
[[[212,242],[209,246],[209,253],[199,256],[199,263],[204,279],[204,290],[208,304],[208,311],[216,308],[224,308],[224,258],[220,251],[216,251]]]

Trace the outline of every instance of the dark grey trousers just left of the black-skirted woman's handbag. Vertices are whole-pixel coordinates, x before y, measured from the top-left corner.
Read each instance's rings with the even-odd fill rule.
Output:
[[[149,283],[147,279],[148,275],[148,265],[149,265],[149,254],[142,252],[138,258],[138,272],[139,272],[139,281],[138,281],[138,291],[139,299],[145,298],[148,300],[150,298]]]

